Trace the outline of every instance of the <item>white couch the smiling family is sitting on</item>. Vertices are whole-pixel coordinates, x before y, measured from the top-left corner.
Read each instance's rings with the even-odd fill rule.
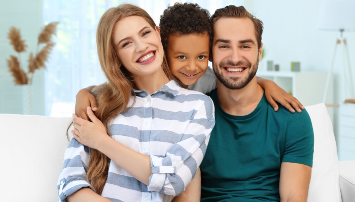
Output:
[[[355,161],[338,162],[326,107],[306,109],[315,140],[308,201],[355,201]],[[56,184],[70,120],[0,114],[0,201],[58,201]]]

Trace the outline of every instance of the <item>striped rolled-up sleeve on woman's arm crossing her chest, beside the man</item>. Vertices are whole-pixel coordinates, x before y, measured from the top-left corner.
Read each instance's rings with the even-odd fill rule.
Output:
[[[151,156],[152,175],[148,190],[179,195],[194,178],[205,155],[209,135],[215,126],[215,109],[210,97],[195,107],[184,134],[192,136],[173,144],[166,157]]]

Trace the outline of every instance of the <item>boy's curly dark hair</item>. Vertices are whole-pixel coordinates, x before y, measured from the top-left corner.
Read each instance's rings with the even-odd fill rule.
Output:
[[[171,34],[204,34],[212,36],[209,12],[198,4],[175,3],[160,16],[159,28],[164,51],[167,51],[168,37]]]

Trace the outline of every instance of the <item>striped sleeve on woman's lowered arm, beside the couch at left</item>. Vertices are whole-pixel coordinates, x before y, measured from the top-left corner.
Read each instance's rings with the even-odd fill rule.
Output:
[[[67,196],[83,187],[93,189],[86,181],[89,154],[89,147],[84,146],[75,138],[70,140],[65,150],[63,168],[57,183],[59,201],[64,202]]]

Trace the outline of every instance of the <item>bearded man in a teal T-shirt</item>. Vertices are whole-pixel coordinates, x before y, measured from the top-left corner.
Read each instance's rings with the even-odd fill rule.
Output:
[[[262,22],[235,6],[211,21],[216,125],[200,165],[201,201],[306,201],[312,124],[305,110],[274,112],[256,82]]]

